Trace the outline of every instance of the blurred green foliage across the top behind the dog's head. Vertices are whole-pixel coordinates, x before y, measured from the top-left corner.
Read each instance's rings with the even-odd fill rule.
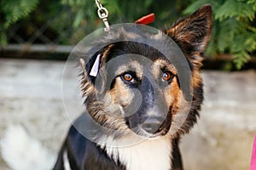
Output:
[[[256,0],[102,0],[103,7],[108,8],[110,24],[133,22],[154,13],[156,20],[150,26],[157,28],[172,26],[174,20],[206,3],[212,4],[214,20],[207,56],[232,54],[240,69],[256,52]],[[96,10],[94,0],[1,0],[0,44],[10,41],[8,31],[16,25],[26,40],[45,23],[49,23],[44,32],[50,40],[76,44],[103,26]]]

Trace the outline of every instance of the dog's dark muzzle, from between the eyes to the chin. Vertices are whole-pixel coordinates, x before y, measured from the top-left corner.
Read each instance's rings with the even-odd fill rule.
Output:
[[[141,85],[133,89],[134,99],[125,113],[126,124],[135,133],[155,137],[165,135],[172,122],[170,105],[166,104],[164,90],[144,77]],[[137,108],[131,110],[131,108]],[[134,111],[134,112],[133,112]]]

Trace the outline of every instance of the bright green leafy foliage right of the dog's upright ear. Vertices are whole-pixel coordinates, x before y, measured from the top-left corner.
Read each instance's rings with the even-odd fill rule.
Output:
[[[183,14],[189,14],[211,3],[213,9],[212,40],[207,55],[229,53],[237,69],[241,69],[256,51],[255,0],[195,0]]]

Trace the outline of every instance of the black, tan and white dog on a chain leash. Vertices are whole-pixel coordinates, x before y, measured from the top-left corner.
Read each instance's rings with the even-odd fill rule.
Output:
[[[120,26],[111,40],[107,36],[104,45],[95,45],[89,60],[79,60],[86,111],[70,127],[55,170],[183,169],[178,144],[201,110],[201,66],[212,8],[204,5],[162,33],[142,36],[138,27]],[[177,52],[166,49],[166,37],[177,44]],[[177,64],[180,59],[168,59],[169,52],[184,59]],[[88,117],[95,125],[88,126]],[[100,130],[87,135],[83,128]]]

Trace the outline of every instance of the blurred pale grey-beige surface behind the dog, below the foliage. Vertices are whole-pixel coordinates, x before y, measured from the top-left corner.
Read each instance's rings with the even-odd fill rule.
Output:
[[[72,73],[61,84],[64,65],[0,59],[0,138],[9,125],[19,124],[57,153],[70,121],[82,110]],[[203,71],[203,78],[201,119],[181,142],[184,167],[247,170],[256,132],[256,72]],[[0,167],[9,169],[1,157]]]

